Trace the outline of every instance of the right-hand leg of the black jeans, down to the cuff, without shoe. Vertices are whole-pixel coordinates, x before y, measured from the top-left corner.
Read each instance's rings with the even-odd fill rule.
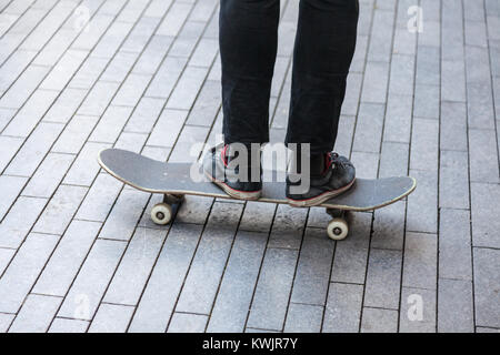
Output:
[[[333,149],[356,47],[358,0],[301,0],[287,143]]]

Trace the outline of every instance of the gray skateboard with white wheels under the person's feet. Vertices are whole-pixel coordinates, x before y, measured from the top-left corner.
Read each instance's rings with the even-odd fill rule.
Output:
[[[203,174],[191,179],[192,163],[166,163],[121,149],[106,149],[99,153],[99,164],[123,183],[150,193],[163,194],[163,202],[151,210],[156,224],[168,224],[173,217],[172,205],[180,204],[184,195],[201,195],[233,200]],[[198,163],[194,163],[198,165]],[[201,168],[198,165],[198,169]],[[284,182],[264,182],[262,196],[257,200],[268,203],[288,203]],[[327,226],[328,236],[343,240],[349,232],[347,211],[372,211],[404,199],[416,189],[410,176],[383,179],[357,179],[347,192],[322,204],[332,220]]]

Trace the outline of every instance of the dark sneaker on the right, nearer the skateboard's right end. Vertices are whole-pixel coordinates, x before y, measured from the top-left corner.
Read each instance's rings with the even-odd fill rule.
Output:
[[[319,205],[349,190],[356,180],[354,165],[346,156],[333,152],[312,158],[310,171],[310,186],[303,193],[292,193],[291,187],[299,185],[300,182],[292,183],[287,179],[287,199],[290,205],[298,207]]]

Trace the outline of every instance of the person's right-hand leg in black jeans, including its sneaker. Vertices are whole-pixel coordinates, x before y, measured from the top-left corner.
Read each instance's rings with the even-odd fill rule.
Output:
[[[346,79],[356,47],[358,0],[300,0],[293,52],[290,116],[286,142],[310,143],[309,156],[296,152],[294,165],[309,159],[309,190],[288,180],[290,204],[318,205],[347,191],[356,170],[348,159],[330,153],[346,94]],[[289,176],[290,178],[290,176]]]

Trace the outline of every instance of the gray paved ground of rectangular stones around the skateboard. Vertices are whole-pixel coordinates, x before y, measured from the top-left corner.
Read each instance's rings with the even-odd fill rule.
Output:
[[[0,0],[0,331],[499,332],[499,1],[361,1],[336,149],[419,185],[338,243],[320,209],[201,197],[157,227],[158,196],[99,170],[108,146],[180,161],[213,142],[217,6]]]

